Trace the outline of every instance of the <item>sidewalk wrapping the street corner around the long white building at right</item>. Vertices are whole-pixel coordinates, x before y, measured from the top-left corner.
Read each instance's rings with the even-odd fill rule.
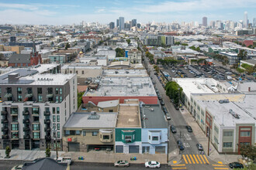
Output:
[[[205,148],[205,153],[207,155],[207,148],[208,148],[208,138],[206,134],[203,133],[202,129],[199,127],[199,124],[195,121],[192,114],[189,113],[185,107],[184,110],[181,111],[185,121],[192,127],[193,132],[195,134],[195,138],[199,141],[203,148]],[[223,164],[228,164],[230,162],[237,162],[239,158],[242,158],[241,155],[220,155],[218,151],[213,147],[213,145],[209,144],[209,158],[213,160],[213,162],[223,162]]]

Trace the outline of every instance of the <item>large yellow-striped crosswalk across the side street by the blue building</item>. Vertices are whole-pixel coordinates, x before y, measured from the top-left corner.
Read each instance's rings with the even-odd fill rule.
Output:
[[[185,164],[208,164],[206,155],[182,155]]]

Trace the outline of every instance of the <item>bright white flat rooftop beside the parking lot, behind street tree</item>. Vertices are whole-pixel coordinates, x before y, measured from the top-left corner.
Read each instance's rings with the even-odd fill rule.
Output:
[[[209,87],[206,86],[206,80],[216,82],[216,80],[212,78],[174,78],[173,80],[182,87],[183,92],[189,99],[191,93],[214,93],[213,90],[210,90]]]

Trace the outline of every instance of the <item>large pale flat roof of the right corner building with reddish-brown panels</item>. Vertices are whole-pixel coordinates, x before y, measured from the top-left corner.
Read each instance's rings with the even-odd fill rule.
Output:
[[[236,124],[256,124],[256,95],[241,93],[192,94],[201,107],[213,114],[214,120],[225,127]],[[220,104],[219,100],[229,99],[229,103]],[[239,115],[239,119],[230,114],[230,109]]]

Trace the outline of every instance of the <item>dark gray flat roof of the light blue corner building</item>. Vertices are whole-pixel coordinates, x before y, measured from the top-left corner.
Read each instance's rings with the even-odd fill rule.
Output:
[[[140,117],[142,128],[168,128],[159,104],[143,104],[140,107]]]

